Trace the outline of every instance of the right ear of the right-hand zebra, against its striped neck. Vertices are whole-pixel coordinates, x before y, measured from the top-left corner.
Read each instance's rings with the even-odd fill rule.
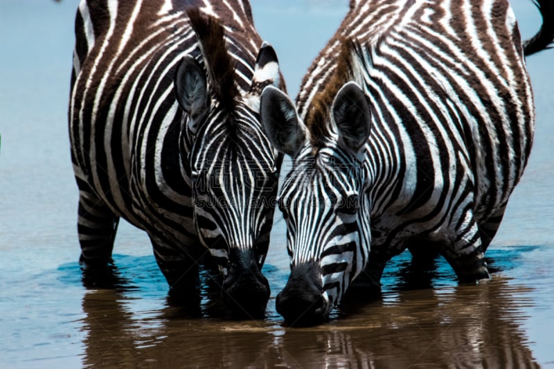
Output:
[[[371,112],[364,91],[356,82],[348,82],[337,93],[332,116],[339,131],[339,145],[359,154],[369,138]]]

